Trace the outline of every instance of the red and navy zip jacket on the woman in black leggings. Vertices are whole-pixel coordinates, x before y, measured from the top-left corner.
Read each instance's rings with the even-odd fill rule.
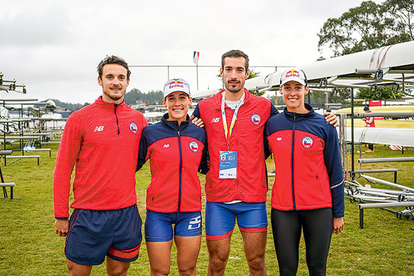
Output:
[[[344,216],[344,173],[336,129],[305,104],[306,114],[270,118],[266,135],[275,157],[272,207],[277,210],[333,208]]]

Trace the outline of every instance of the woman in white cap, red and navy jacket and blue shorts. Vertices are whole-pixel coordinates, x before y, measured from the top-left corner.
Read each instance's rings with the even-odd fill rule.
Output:
[[[144,128],[137,169],[150,159],[145,238],[151,275],[168,275],[172,239],[179,275],[195,275],[201,244],[201,186],[197,177],[206,131],[190,122],[190,88],[184,79],[164,86],[168,113]]]

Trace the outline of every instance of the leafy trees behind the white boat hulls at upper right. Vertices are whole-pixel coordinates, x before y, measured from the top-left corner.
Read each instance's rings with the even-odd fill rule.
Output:
[[[319,30],[318,50],[331,57],[349,55],[382,46],[414,40],[414,0],[386,0],[383,3],[364,1],[340,17],[329,18]],[[323,60],[322,55],[318,60]],[[413,91],[401,88],[361,88],[359,99],[400,99]],[[315,92],[315,98],[321,92]],[[336,88],[331,102],[345,103],[351,97],[346,88]]]

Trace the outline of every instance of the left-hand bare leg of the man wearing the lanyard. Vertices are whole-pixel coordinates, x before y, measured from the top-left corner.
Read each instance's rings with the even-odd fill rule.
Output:
[[[230,254],[230,237],[207,240],[208,276],[223,276]]]

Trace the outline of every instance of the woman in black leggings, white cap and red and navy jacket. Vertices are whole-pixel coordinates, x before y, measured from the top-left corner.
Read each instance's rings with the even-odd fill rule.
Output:
[[[282,74],[286,108],[266,122],[275,155],[272,228],[279,273],[296,275],[302,230],[309,275],[326,275],[332,233],[344,228],[344,175],[335,128],[304,102],[304,72]]]

